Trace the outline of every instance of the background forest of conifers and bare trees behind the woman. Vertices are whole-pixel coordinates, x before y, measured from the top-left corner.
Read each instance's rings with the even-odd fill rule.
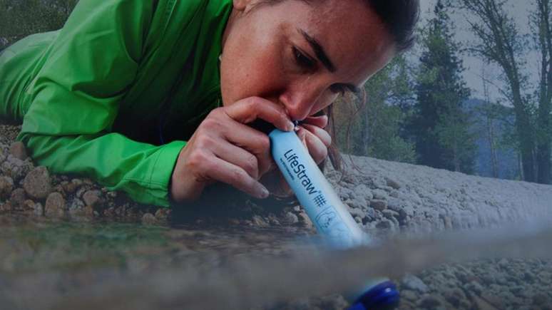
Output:
[[[76,2],[0,0],[0,48],[31,33],[61,28]],[[414,52],[394,58],[372,77],[364,88],[365,100],[346,96],[335,104],[340,149],[550,184],[552,0],[528,1],[531,36],[521,33],[506,4],[436,1],[429,19],[419,25]],[[469,42],[455,41],[452,10],[470,16]],[[525,70],[530,52],[538,54],[538,72]],[[499,69],[496,76],[481,76],[484,95],[479,100],[463,80],[466,55]],[[499,100],[489,96],[495,86]]]

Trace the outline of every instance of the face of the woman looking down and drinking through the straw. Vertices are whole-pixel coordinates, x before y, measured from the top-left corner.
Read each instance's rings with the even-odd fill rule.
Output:
[[[259,96],[303,120],[362,88],[394,55],[392,37],[360,0],[235,0],[223,37],[223,104]]]

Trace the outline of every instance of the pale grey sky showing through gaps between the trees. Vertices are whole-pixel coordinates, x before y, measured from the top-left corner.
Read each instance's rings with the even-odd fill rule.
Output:
[[[420,0],[420,3],[422,21],[431,18],[436,0]],[[529,11],[532,9],[532,4],[533,0],[508,0],[505,6],[506,11],[514,18],[516,24],[518,24],[518,29],[520,29],[520,32],[523,34],[528,34],[530,32],[528,15]],[[451,21],[454,22],[456,29],[454,39],[461,43],[461,46],[469,46],[470,43],[476,41],[474,35],[469,31],[469,25],[466,23],[466,19],[469,18],[471,18],[471,16],[466,16],[463,12],[457,11],[451,14]],[[419,51],[414,51],[414,54],[416,53],[419,53]],[[484,99],[481,78],[484,72],[486,78],[492,81],[493,84],[496,84],[496,86],[491,84],[488,85],[491,100],[500,100],[503,104],[508,105],[499,92],[499,87],[504,88],[504,86],[499,78],[501,71],[498,67],[486,65],[479,58],[474,56],[462,56],[462,60],[466,68],[466,71],[464,71],[464,80],[467,86],[472,90],[472,97]],[[526,61],[526,73],[528,73],[531,81],[536,82],[538,78],[538,56],[534,52],[529,52],[526,54],[524,60]]]

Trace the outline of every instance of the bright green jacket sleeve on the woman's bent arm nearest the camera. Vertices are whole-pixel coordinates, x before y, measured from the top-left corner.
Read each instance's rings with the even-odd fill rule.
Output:
[[[167,207],[185,142],[155,146],[111,133],[157,3],[79,1],[26,90],[32,104],[17,139],[53,172],[86,175],[137,202]]]

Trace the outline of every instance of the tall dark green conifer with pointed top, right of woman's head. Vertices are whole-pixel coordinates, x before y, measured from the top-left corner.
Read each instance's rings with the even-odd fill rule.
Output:
[[[437,1],[434,14],[422,32],[417,101],[409,128],[419,164],[471,173],[476,147],[462,107],[470,91],[461,78],[464,67],[443,1]]]

